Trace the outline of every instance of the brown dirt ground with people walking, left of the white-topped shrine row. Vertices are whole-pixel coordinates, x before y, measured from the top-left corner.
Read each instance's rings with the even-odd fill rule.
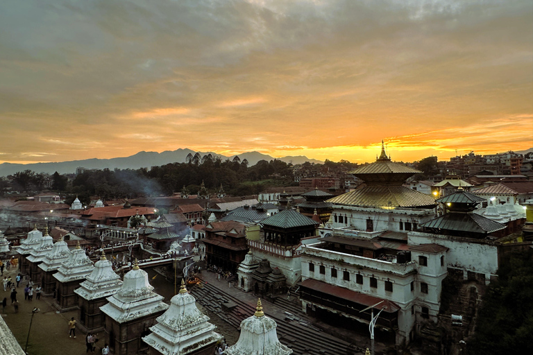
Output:
[[[4,269],[3,276],[8,275],[11,275],[13,281],[15,281],[17,270]],[[3,279],[3,276],[1,279]],[[6,321],[8,327],[10,327],[22,349],[26,347],[26,339],[28,338],[28,330],[30,329],[31,311],[34,307],[37,307],[40,311],[33,315],[28,348],[26,350],[27,354],[86,354],[85,334],[77,329],[76,338],[69,338],[68,323],[71,317],[78,317],[77,311],[56,313],[56,309],[51,306],[51,297],[41,297],[41,300],[35,300],[35,293],[33,295],[33,301],[25,301],[24,287],[26,287],[26,284],[27,280],[22,280],[17,288],[19,313],[15,313],[15,309],[11,305],[10,290],[3,291],[3,286],[0,286],[0,300],[3,300],[4,297],[8,299],[8,306],[6,306],[6,310],[1,313],[2,318]],[[94,354],[101,354],[103,341],[102,338],[99,343],[96,343]]]

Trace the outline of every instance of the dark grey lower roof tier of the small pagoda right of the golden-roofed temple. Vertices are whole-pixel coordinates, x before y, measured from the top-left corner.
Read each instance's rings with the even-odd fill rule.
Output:
[[[473,213],[444,214],[443,216],[422,223],[421,226],[480,234],[487,234],[505,229],[505,225]]]

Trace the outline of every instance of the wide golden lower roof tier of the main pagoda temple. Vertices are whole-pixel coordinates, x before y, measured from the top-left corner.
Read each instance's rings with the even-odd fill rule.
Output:
[[[403,186],[367,186],[360,190],[335,196],[327,200],[327,202],[332,202],[336,205],[366,207],[417,207],[435,205],[435,200],[432,196]]]

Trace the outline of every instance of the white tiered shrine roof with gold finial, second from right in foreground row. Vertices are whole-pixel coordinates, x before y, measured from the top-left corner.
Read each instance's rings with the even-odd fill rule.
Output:
[[[142,338],[164,355],[186,355],[198,349],[214,347],[222,336],[214,332],[209,317],[196,308],[196,300],[187,293],[181,280],[180,292],[172,297],[170,307],[150,327],[151,334]]]

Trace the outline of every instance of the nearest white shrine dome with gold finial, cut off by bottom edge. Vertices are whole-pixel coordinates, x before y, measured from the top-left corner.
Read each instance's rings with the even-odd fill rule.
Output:
[[[225,355],[289,355],[292,350],[282,345],[276,333],[276,321],[263,313],[261,300],[257,311],[241,322],[241,335],[235,345],[226,349]]]

